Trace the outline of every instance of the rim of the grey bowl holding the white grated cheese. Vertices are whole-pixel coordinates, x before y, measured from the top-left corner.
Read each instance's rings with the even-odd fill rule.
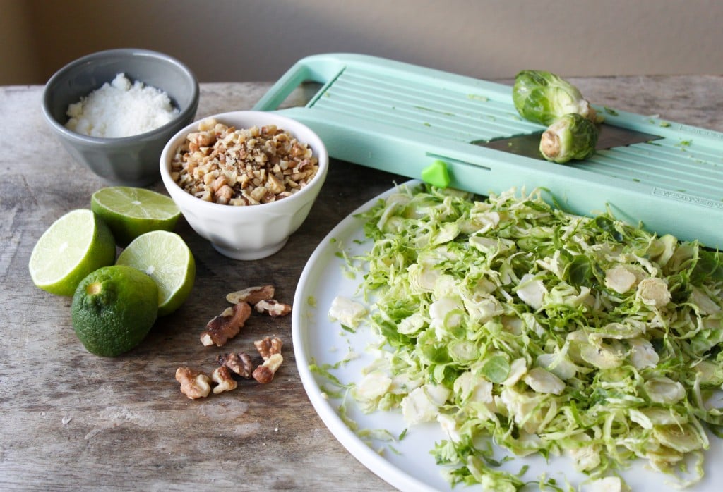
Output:
[[[89,136],[89,135],[83,135],[82,133],[77,133],[75,131],[69,130],[64,125],[61,125],[61,123],[54,118],[54,116],[50,112],[50,108],[48,105],[48,100],[50,99],[50,93],[51,88],[54,86],[54,84],[60,79],[67,71],[74,69],[77,66],[83,65],[85,63],[95,61],[98,58],[105,58],[106,56],[113,56],[113,55],[122,55],[122,56],[128,56],[129,58],[134,58],[136,56],[145,56],[148,58],[156,58],[158,60],[161,60],[165,63],[169,63],[171,65],[175,65],[179,69],[181,69],[181,72],[183,72],[184,76],[187,76],[189,80],[192,81],[192,92],[191,92],[191,102],[187,107],[185,107],[183,110],[179,111],[179,114],[176,115],[173,119],[168,121],[168,123],[163,123],[163,125],[159,126],[158,128],[153,128],[153,130],[145,131],[143,133],[137,133],[135,135],[131,136],[123,136],[123,137],[99,137],[99,136]],[[144,82],[145,84],[145,82]],[[163,92],[166,92],[165,89],[161,87],[157,87],[157,89],[163,90]],[[60,69],[58,69],[51,77],[48,79],[48,82],[46,82],[45,87],[43,87],[43,100],[42,100],[42,109],[43,109],[43,116],[45,116],[48,123],[53,126],[53,128],[56,129],[56,131],[59,131],[64,137],[82,142],[83,144],[95,144],[95,145],[106,145],[106,144],[124,144],[124,143],[131,143],[139,140],[152,140],[155,139],[158,136],[163,136],[163,133],[166,133],[171,127],[178,125],[179,121],[183,121],[186,118],[189,118],[189,116],[195,115],[197,108],[198,108],[198,102],[200,99],[200,87],[198,84],[198,80],[196,79],[196,76],[194,75],[193,71],[189,68],[189,66],[186,65],[186,63],[183,63],[178,58],[175,58],[174,56],[167,55],[166,53],[161,53],[160,51],[154,51],[154,50],[147,50],[144,48],[114,48],[111,50],[103,50],[103,51],[96,51],[95,53],[89,53],[85,56],[81,56],[80,58],[76,58],[75,60],[65,64]],[[189,113],[193,113],[192,115]]]

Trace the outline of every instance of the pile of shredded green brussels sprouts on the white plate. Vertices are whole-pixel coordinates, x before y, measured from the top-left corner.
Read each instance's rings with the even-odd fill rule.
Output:
[[[354,260],[381,341],[351,395],[401,409],[412,430],[439,422],[447,439],[430,451],[452,484],[524,485],[496,467],[492,442],[565,454],[591,480],[639,458],[694,483],[705,429],[723,423],[710,403],[722,255],[609,212],[567,214],[544,193],[401,186],[361,214],[372,244]]]

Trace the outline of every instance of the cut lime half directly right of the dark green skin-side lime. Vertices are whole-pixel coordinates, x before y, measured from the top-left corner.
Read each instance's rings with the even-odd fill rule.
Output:
[[[158,284],[158,316],[170,315],[187,299],[196,278],[196,262],[175,232],[152,231],[135,238],[116,265],[137,268]]]

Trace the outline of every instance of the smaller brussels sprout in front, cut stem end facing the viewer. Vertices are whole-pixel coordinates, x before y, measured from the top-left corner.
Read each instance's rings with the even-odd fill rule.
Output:
[[[557,118],[540,139],[540,152],[548,161],[564,164],[587,159],[595,152],[598,129],[595,123],[577,113]]]

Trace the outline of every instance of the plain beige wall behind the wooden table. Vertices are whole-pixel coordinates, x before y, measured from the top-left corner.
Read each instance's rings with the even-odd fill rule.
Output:
[[[719,0],[0,0],[0,84],[147,48],[200,82],[272,81],[294,61],[365,53],[500,79],[723,74]]]

